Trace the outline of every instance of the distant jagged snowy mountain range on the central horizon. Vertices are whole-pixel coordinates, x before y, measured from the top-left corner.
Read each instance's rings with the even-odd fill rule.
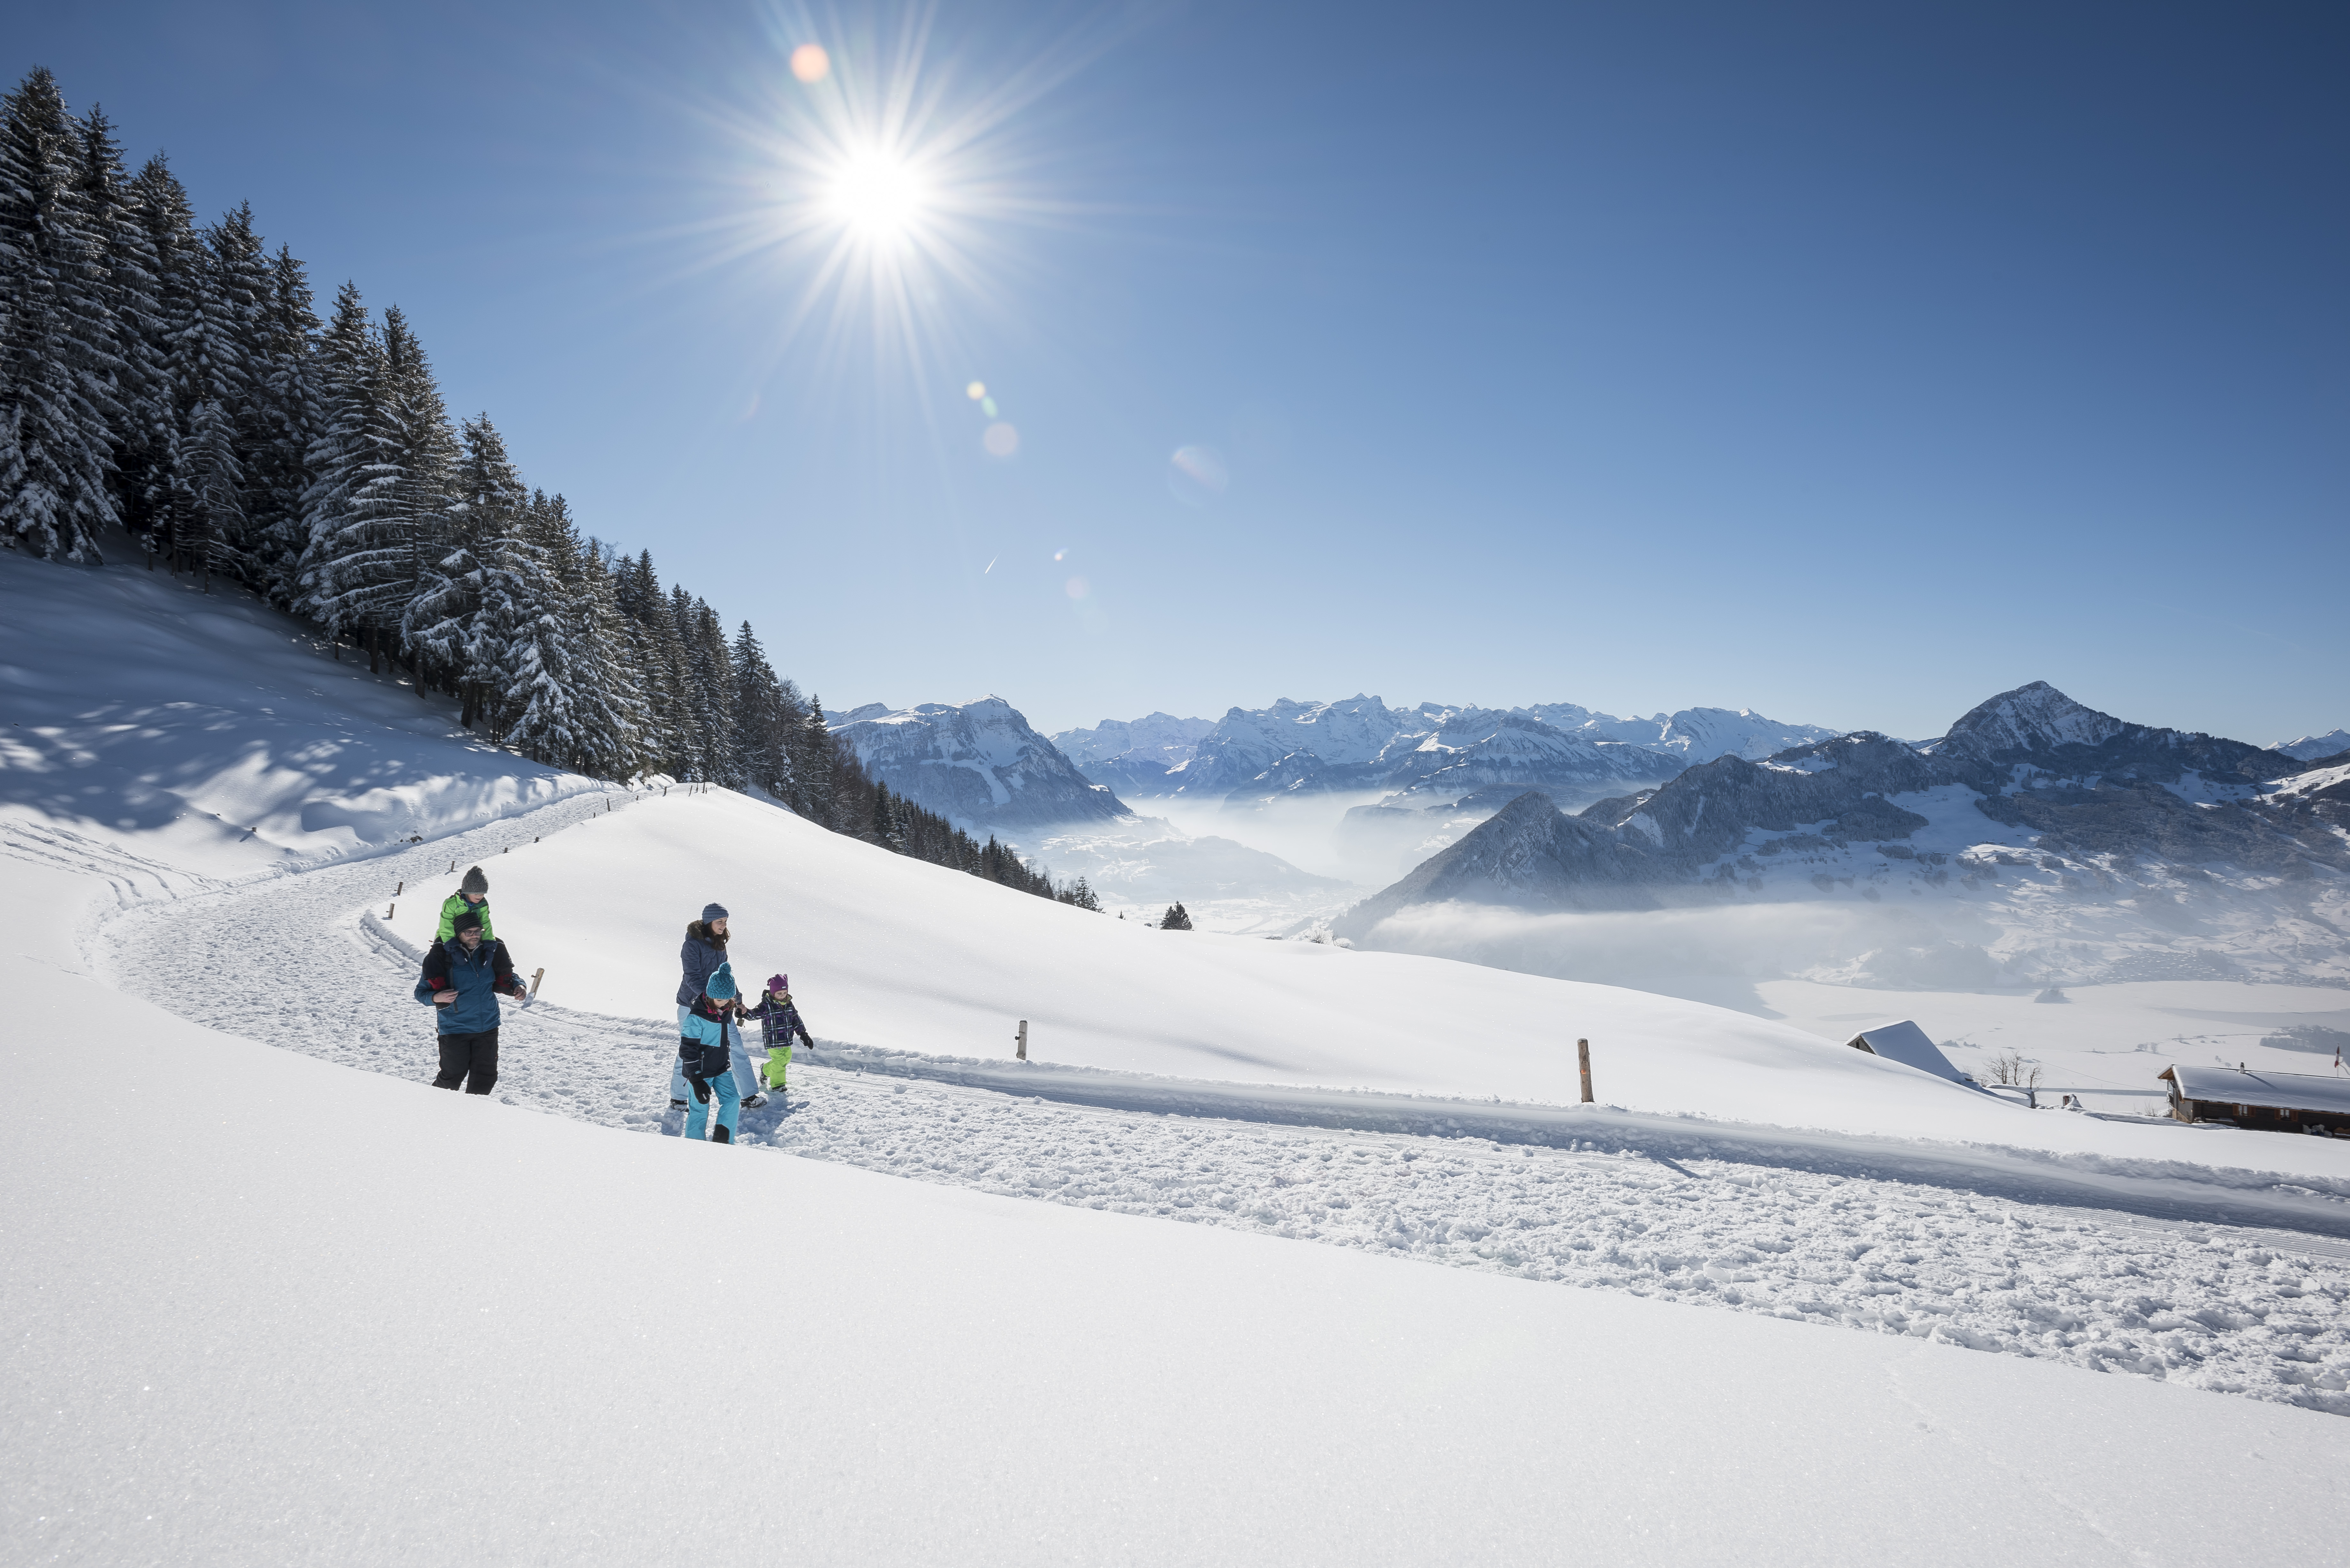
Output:
[[[1260,802],[1335,790],[1384,790],[1398,806],[1452,804],[1516,783],[1596,799],[1661,783],[1713,757],[1767,757],[1835,731],[1781,724],[1751,710],[1685,708],[1619,719],[1577,703],[1389,708],[1356,693],[1337,703],[1231,708],[1217,722],[1152,715],[1072,729],[1055,743],[1086,776],[1128,799]]]

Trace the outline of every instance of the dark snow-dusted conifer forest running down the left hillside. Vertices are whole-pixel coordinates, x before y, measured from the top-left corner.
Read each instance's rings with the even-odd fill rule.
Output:
[[[33,71],[0,99],[0,545],[240,588],[465,729],[597,778],[759,790],[834,832],[1100,907],[872,780],[745,621],[583,534],[486,414],[451,423],[416,329],[345,282],[324,320],[247,205],[197,221],[157,155]]]

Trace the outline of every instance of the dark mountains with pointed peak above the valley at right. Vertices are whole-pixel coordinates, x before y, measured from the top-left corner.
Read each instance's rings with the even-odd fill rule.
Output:
[[[1948,959],[1946,983],[2350,983],[2350,769],[2129,724],[2035,682],[1925,745],[1861,731],[1760,764],[1725,755],[1574,816],[1520,795],[1337,931],[1370,943],[1431,905],[1819,898],[1878,905],[1906,926],[1889,947]],[[1880,954],[1878,978],[1892,966]]]

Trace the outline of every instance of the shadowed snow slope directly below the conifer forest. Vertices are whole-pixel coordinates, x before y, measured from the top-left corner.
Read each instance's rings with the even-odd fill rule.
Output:
[[[451,703],[331,661],[244,592],[136,564],[0,550],[0,832],[214,877],[599,788],[468,736]]]

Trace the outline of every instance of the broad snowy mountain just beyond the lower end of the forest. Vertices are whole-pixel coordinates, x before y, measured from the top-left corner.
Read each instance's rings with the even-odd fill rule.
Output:
[[[999,696],[867,703],[834,715],[832,733],[877,780],[975,832],[1130,816]]]

